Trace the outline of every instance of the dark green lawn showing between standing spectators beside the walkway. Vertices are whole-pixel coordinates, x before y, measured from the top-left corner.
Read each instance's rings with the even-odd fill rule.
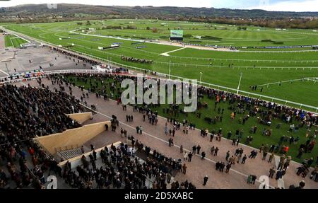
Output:
[[[83,82],[83,80],[76,78],[75,76],[68,76],[66,77],[66,79],[68,81],[73,81],[76,86],[84,86],[86,89],[90,88],[90,83],[85,83]],[[89,79],[88,79],[89,81]],[[95,84],[95,82],[98,82],[98,92],[100,92],[101,90],[101,81],[98,79],[91,79],[92,83]],[[110,84],[112,83],[112,79],[106,79],[105,82],[105,87],[107,90],[108,95],[110,95]],[[120,84],[117,83],[117,87],[119,87]],[[120,93],[115,91],[114,92],[114,98],[118,98],[120,96]],[[285,135],[285,136],[293,136],[293,137],[300,137],[300,141],[298,141],[297,144],[289,144],[286,143],[286,145],[288,145],[290,147],[290,150],[288,152],[288,156],[292,156],[293,161],[298,161],[301,162],[302,158],[316,158],[318,156],[318,148],[317,146],[314,147],[313,151],[311,153],[304,153],[304,155],[302,156],[302,158],[296,158],[297,154],[298,154],[298,148],[300,146],[300,144],[305,143],[305,141],[307,141],[307,138],[305,137],[306,134],[306,129],[305,127],[302,127],[298,130],[298,132],[292,132],[292,133],[288,133],[288,129],[289,129],[289,125],[287,123],[284,123],[282,120],[278,119],[278,120],[272,120],[272,124],[271,127],[268,127],[266,125],[263,124],[259,124],[259,122],[257,122],[257,117],[251,117],[244,125],[239,123],[239,119],[240,117],[244,117],[244,114],[237,114],[234,122],[230,121],[230,114],[232,112],[232,110],[229,110],[229,103],[228,101],[226,101],[225,103],[221,102],[218,107],[220,107],[221,109],[224,108],[224,113],[223,113],[223,121],[222,122],[216,122],[216,124],[208,124],[207,122],[204,121],[204,117],[215,117],[216,115],[218,115],[217,111],[214,110],[214,101],[215,98],[207,98],[206,96],[200,100],[201,103],[208,103],[208,108],[202,108],[200,110],[197,110],[195,113],[189,113],[188,116],[179,113],[177,116],[174,115],[170,115],[167,114],[165,112],[163,112],[163,109],[165,108],[169,108],[169,105],[160,105],[159,107],[152,107],[152,110],[156,110],[158,111],[158,114],[163,116],[163,117],[174,117],[177,120],[179,120],[179,122],[182,122],[183,119],[187,118],[189,120],[189,122],[192,122],[194,124],[196,124],[196,128],[198,129],[209,129],[209,132],[212,131],[212,129],[215,129],[216,131],[220,128],[223,129],[223,137],[226,137],[226,134],[228,134],[229,131],[232,132],[234,137],[235,131],[237,129],[242,130],[244,132],[243,135],[243,139],[241,141],[242,144],[245,144],[246,142],[246,138],[247,136],[253,136],[254,137],[254,141],[252,141],[251,144],[249,144],[250,146],[253,146],[257,149],[259,149],[259,147],[261,146],[261,144],[268,144],[269,146],[271,146],[271,144],[278,144],[279,139]],[[236,106],[237,103],[235,103]],[[201,113],[201,118],[196,117],[196,113],[200,112]],[[245,112],[245,115],[247,114],[247,112]],[[257,115],[258,116],[258,115]],[[281,129],[276,129],[276,125],[278,123],[282,123],[281,124]],[[298,124],[297,122],[294,122],[295,126]],[[257,126],[257,133],[256,134],[249,134],[249,129],[253,126]],[[262,130],[263,129],[272,129],[272,136],[271,137],[265,137],[262,135]],[[314,129],[318,129],[317,127],[312,127],[310,134],[313,134]],[[212,143],[213,145],[213,143]],[[245,153],[249,153],[249,151],[246,151]]]

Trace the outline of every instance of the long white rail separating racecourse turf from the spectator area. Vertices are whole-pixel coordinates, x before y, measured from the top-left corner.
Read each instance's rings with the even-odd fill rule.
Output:
[[[11,31],[11,32],[14,32],[14,31]],[[14,33],[17,33],[17,32],[14,32]],[[67,52],[71,52],[71,53],[76,53],[76,54],[81,54],[83,56],[86,56],[86,57],[90,57],[91,59],[98,59],[100,62],[107,62],[108,64],[110,65],[113,65],[113,66],[119,66],[119,67],[124,67],[126,69],[135,69],[137,71],[150,71],[148,69],[141,69],[141,68],[138,68],[138,67],[134,67],[134,66],[127,66],[127,65],[124,65],[124,64],[119,64],[119,63],[116,63],[116,62],[112,62],[110,60],[107,60],[107,59],[102,59],[100,57],[95,57],[93,55],[90,55],[90,54],[86,54],[86,53],[83,53],[83,52],[78,52],[78,51],[75,51],[75,50],[70,50],[68,48],[64,48],[64,47],[57,47],[57,45],[54,45],[50,42],[43,42],[43,41],[40,41],[40,40],[37,40],[35,39],[34,37],[29,37],[28,35],[24,35],[22,33],[18,33],[19,35],[23,35],[25,37],[28,37],[30,39],[33,39],[35,40],[36,42],[40,42],[42,44],[46,44],[46,45],[49,45],[51,47],[54,47],[58,50],[64,50],[64,51],[67,51]],[[167,76],[170,76],[170,77],[173,77],[175,79],[186,79],[184,77],[181,77],[181,76],[174,76],[174,75],[169,75],[169,74],[163,74],[163,73],[160,73],[158,71],[153,71],[155,72],[158,76],[164,76],[164,77],[167,77]],[[187,79],[188,80],[188,79]],[[283,100],[283,99],[280,99],[280,98],[274,98],[274,97],[270,97],[270,96],[266,96],[266,95],[260,95],[260,94],[257,94],[257,93],[250,93],[250,92],[247,92],[247,91],[241,91],[240,89],[237,89],[237,88],[229,88],[229,87],[225,87],[225,86],[219,86],[219,85],[216,85],[216,84],[212,84],[212,83],[206,83],[206,82],[199,82],[201,86],[205,86],[207,88],[212,88],[212,87],[216,87],[214,89],[217,89],[217,90],[220,90],[220,89],[223,89],[223,91],[226,91],[226,92],[229,92],[229,93],[237,93],[237,95],[243,95],[243,96],[247,96],[247,97],[252,97],[252,98],[257,98],[257,99],[261,99],[261,100],[264,100],[266,102],[273,102],[274,100],[278,101],[276,103],[278,104],[281,104],[281,105],[285,105],[285,106],[288,106],[288,103],[289,104],[292,104],[292,105],[295,105],[295,106],[298,106],[298,108],[307,108],[307,109],[311,109],[310,111],[311,112],[314,112],[314,113],[317,113],[318,112],[318,107],[317,106],[312,106],[312,105],[306,105],[306,104],[302,104],[302,103],[296,103],[296,102],[293,102],[293,101],[290,101],[290,100]],[[232,92],[231,92],[232,91]],[[244,93],[244,94],[240,94],[240,93]],[[253,97],[254,96],[254,97]],[[265,99],[264,99],[265,98]],[[293,108],[293,107],[291,107]],[[294,107],[295,108],[295,107]]]

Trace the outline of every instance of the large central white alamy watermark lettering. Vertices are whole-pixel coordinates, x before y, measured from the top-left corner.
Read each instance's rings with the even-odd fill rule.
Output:
[[[197,81],[184,79],[146,79],[137,76],[137,83],[132,79],[122,81],[121,99],[126,104],[169,104],[184,105],[184,112],[194,112],[197,108]],[[128,88],[127,88],[128,87]],[[143,92],[146,90],[145,92]]]

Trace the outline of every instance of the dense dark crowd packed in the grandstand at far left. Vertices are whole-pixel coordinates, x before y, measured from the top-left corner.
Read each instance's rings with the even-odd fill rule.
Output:
[[[63,91],[49,91],[44,86],[1,86],[0,161],[6,166],[1,168],[1,187],[42,187],[46,181],[43,174],[49,168],[57,170],[51,167],[57,162],[33,138],[81,127],[66,114],[83,110],[76,98]]]

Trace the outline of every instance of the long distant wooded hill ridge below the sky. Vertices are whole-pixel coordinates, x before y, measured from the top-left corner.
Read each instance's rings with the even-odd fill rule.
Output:
[[[0,8],[0,18],[20,16],[39,18],[40,16],[85,17],[104,16],[108,18],[302,18],[318,17],[318,12],[277,12],[264,10],[239,10],[228,8],[187,8],[153,6],[92,6],[83,4],[58,4],[57,9],[49,9],[47,4],[25,4]]]

